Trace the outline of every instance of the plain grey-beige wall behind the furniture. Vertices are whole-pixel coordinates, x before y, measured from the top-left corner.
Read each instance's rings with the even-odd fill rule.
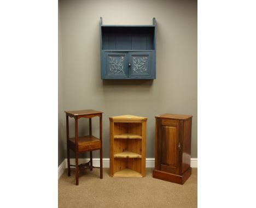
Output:
[[[155,115],[193,115],[191,157],[197,157],[196,1],[66,0],[60,1],[59,5],[59,164],[66,158],[63,111],[75,109],[104,112],[105,158],[109,157],[110,116],[134,114],[147,117],[147,157],[152,158]],[[100,17],[103,25],[152,25],[155,17],[156,79],[102,81]],[[92,120],[92,131],[97,136],[98,118]],[[70,123],[73,136],[73,120]],[[79,133],[88,133],[88,121],[79,124]],[[83,126],[86,130],[82,130]],[[98,152],[94,155],[98,157]]]

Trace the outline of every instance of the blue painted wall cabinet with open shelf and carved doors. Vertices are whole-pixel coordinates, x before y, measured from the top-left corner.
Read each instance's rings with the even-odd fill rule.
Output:
[[[155,79],[156,23],[102,25],[101,78]]]

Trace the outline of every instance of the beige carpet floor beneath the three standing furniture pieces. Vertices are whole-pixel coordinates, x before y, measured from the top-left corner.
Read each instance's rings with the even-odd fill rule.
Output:
[[[112,178],[108,168],[82,170],[79,185],[75,172],[67,169],[59,179],[59,207],[197,207],[197,168],[179,185],[152,178],[153,168],[147,168],[144,178]]]

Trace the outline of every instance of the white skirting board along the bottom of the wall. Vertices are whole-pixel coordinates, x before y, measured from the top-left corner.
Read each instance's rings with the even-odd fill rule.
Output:
[[[86,163],[89,162],[89,158],[79,158],[78,163]],[[75,164],[75,158],[70,159],[70,164]],[[92,164],[96,167],[100,167],[100,158],[93,158]],[[109,168],[109,158],[102,159],[103,168]],[[197,158],[190,159],[191,168],[197,168]],[[154,168],[155,167],[155,158],[146,158],[146,168]],[[67,168],[67,158],[63,160],[63,162],[58,167],[58,179]],[[73,166],[71,168],[74,168]]]

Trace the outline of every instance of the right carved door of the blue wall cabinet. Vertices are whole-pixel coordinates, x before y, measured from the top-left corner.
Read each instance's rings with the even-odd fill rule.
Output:
[[[129,77],[152,77],[151,56],[151,52],[129,52]]]

